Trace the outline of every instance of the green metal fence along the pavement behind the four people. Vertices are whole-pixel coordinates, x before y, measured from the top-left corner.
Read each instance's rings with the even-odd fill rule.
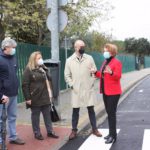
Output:
[[[18,77],[20,80],[19,97],[18,97],[19,103],[24,101],[22,90],[21,90],[22,74],[23,74],[24,68],[28,62],[30,54],[37,50],[42,53],[44,59],[49,59],[51,57],[50,47],[25,44],[25,43],[19,43],[17,46],[16,54],[17,54],[17,59],[19,63]],[[73,52],[74,52],[73,50],[68,50],[67,52],[68,57],[72,55]],[[87,52],[87,53],[93,56],[96,66],[99,69],[104,60],[102,54],[99,52]],[[129,72],[129,71],[135,70],[135,57],[134,56],[123,55],[123,56],[117,56],[117,57],[123,63],[123,72]],[[61,61],[60,89],[63,90],[66,88],[66,83],[64,81],[64,67],[65,67],[65,61],[66,61],[64,49],[60,49],[60,61]]]

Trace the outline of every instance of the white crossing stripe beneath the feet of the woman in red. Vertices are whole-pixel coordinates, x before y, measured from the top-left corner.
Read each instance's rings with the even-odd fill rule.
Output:
[[[108,135],[108,129],[98,129],[103,137],[96,137],[95,135],[89,136],[89,138],[80,146],[78,150],[109,150],[112,144],[105,144],[104,137]],[[117,129],[117,134],[120,129]]]

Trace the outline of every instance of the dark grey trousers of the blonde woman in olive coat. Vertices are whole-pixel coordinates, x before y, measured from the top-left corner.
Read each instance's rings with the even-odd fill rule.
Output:
[[[52,129],[51,116],[50,116],[50,105],[44,105],[40,107],[31,107],[31,120],[32,120],[32,128],[34,134],[41,134],[40,112],[42,112],[43,114],[47,133],[51,133],[53,129]]]

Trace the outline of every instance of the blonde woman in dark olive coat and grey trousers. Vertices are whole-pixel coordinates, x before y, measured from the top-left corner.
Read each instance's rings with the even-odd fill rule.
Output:
[[[49,80],[50,90],[47,89],[46,76]],[[44,117],[44,123],[47,130],[47,136],[58,138],[52,128],[50,116],[50,98],[52,98],[51,77],[43,64],[40,52],[33,52],[23,74],[22,90],[26,100],[27,107],[31,108],[32,128],[35,138],[43,140],[40,131],[40,112]]]

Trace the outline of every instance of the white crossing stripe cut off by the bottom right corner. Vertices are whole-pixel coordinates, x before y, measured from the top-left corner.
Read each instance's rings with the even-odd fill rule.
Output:
[[[142,150],[150,150],[150,130],[144,130],[143,146]]]

